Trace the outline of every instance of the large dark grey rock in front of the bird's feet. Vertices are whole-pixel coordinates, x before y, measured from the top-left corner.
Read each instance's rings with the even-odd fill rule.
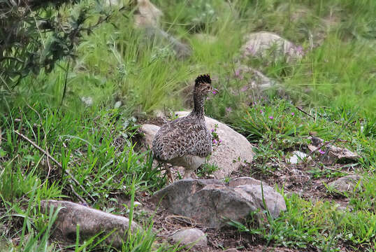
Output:
[[[222,218],[241,221],[256,207],[245,197],[215,179],[183,179],[152,197],[173,214],[194,218],[208,228],[224,226]]]

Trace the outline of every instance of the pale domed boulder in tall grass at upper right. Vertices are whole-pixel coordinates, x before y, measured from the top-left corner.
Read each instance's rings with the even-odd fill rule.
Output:
[[[243,57],[270,57],[278,59],[286,57],[291,59],[301,59],[304,55],[301,46],[273,34],[271,32],[254,32],[247,36],[247,42],[240,48]]]

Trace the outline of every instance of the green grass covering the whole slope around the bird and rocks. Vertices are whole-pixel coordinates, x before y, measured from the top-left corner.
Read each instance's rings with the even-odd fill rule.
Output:
[[[236,223],[236,228],[268,246],[375,250],[376,2],[153,3],[164,12],[161,28],[188,43],[190,57],[177,59],[164,41],[145,38],[125,10],[85,36],[75,59],[59,62],[51,73],[30,74],[13,94],[0,90],[0,250],[59,251],[57,244],[48,243],[56,209],[48,214],[34,209],[40,200],[79,201],[72,188],[93,207],[146,223],[145,232],[132,234],[122,251],[178,250],[160,244],[152,221],[142,212],[133,211],[133,206],[129,211],[113,207],[113,202],[117,194],[132,199],[135,191],[153,193],[166,183],[159,169],[152,169],[150,151],[136,151],[133,136],[138,125],[133,116],[189,109],[186,88],[198,73],[210,73],[219,89],[206,103],[207,115],[255,144],[256,171],[250,170],[250,175],[271,174],[275,168],[270,161],[282,162],[291,151],[305,151],[312,132],[326,141],[343,140],[335,145],[361,156],[353,167],[366,178],[363,190],[341,196],[349,199],[352,211],[338,210],[325,199],[285,195],[287,211],[280,218],[267,218],[263,225]],[[68,11],[64,7],[63,15]],[[298,62],[240,59],[244,36],[252,31],[280,34],[302,45],[306,54]],[[210,40],[202,41],[195,33]],[[43,36],[48,41],[48,34]],[[279,85],[262,95],[244,88],[250,76],[236,78],[238,64],[258,69]],[[83,104],[82,97],[91,97],[92,105]],[[119,101],[122,106],[115,109]],[[62,167],[16,132],[48,151]],[[312,153],[312,158],[317,160],[319,154]],[[199,175],[216,169],[203,167]],[[344,175],[320,163],[309,172],[317,179]],[[78,236],[69,249],[92,251],[103,245],[97,241]]]

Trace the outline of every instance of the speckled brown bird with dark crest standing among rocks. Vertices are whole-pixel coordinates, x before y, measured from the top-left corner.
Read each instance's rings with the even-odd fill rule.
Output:
[[[152,141],[154,158],[165,167],[168,163],[184,167],[183,179],[191,178],[212,153],[212,136],[205,125],[204,104],[213,90],[210,75],[199,75],[194,84],[194,109],[188,116],[162,125]],[[166,169],[168,178],[173,181],[171,169]]]

